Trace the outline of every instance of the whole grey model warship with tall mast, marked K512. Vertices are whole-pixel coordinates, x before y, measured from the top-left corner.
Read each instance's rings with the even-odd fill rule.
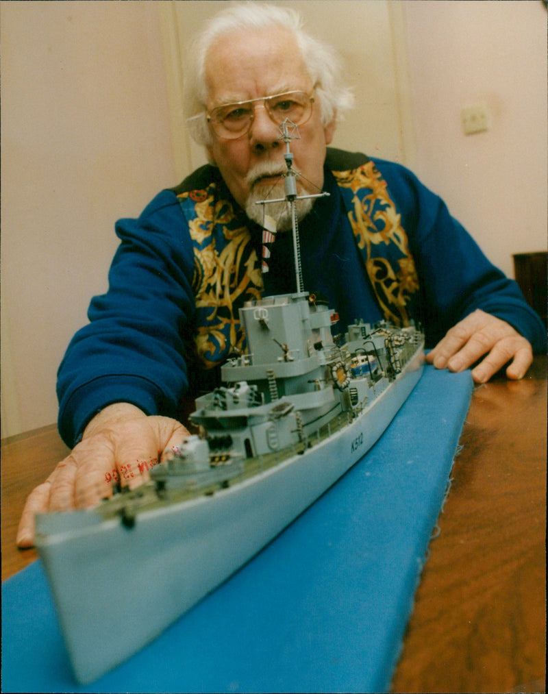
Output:
[[[222,367],[223,387],[196,400],[198,433],[150,481],[93,509],[37,516],[80,682],[158,636],[289,525],[373,446],[422,373],[415,325],[357,321],[343,342],[334,310],[304,291],[292,136],[280,129],[297,291],[243,306],[246,353]]]

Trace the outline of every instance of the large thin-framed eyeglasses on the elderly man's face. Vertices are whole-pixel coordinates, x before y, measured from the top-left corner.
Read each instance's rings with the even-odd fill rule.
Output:
[[[217,106],[207,115],[207,122],[211,124],[213,132],[223,139],[237,139],[246,135],[255,118],[254,104],[257,101],[264,103],[266,112],[271,119],[281,125],[289,118],[296,126],[304,125],[312,115],[314,96],[305,92],[284,92],[273,96],[259,96],[258,99],[249,101],[237,101],[237,103],[225,103]]]

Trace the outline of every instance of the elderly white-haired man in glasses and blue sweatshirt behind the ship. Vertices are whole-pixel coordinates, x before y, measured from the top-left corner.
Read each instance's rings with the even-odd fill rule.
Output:
[[[438,369],[474,364],[485,382],[508,364],[522,378],[542,323],[515,282],[406,169],[327,149],[351,104],[339,61],[300,28],[291,10],[248,3],[210,22],[192,51],[189,124],[210,165],[160,193],[137,220],[117,224],[121,246],[110,289],[94,298],[58,375],[59,427],[74,446],[29,496],[18,543],[33,543],[33,516],[92,505],[118,471],[134,486],[139,462],[177,446],[187,430],[180,403],[214,384],[219,365],[245,348],[244,301],[294,290],[283,208],[269,272],[261,271],[263,198],[283,196],[279,126],[298,126],[298,192],[329,197],[298,210],[302,275],[341,316],[425,323]],[[482,358],[483,357],[483,358]]]

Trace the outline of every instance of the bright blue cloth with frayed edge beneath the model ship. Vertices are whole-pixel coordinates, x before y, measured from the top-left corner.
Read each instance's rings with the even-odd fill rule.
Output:
[[[470,372],[427,366],[383,437],[339,482],[89,686],[72,678],[42,565],[32,564],[2,586],[3,691],[386,691],[471,392]],[[105,610],[116,610],[120,590],[113,580]],[[155,599],[154,586],[144,599]]]

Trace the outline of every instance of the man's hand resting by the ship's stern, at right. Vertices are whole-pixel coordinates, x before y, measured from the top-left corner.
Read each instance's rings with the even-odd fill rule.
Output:
[[[510,361],[506,376],[518,380],[533,362],[529,341],[506,321],[479,309],[447,330],[426,359],[436,369],[464,371],[483,355],[486,357],[472,370],[476,383],[485,383]]]

